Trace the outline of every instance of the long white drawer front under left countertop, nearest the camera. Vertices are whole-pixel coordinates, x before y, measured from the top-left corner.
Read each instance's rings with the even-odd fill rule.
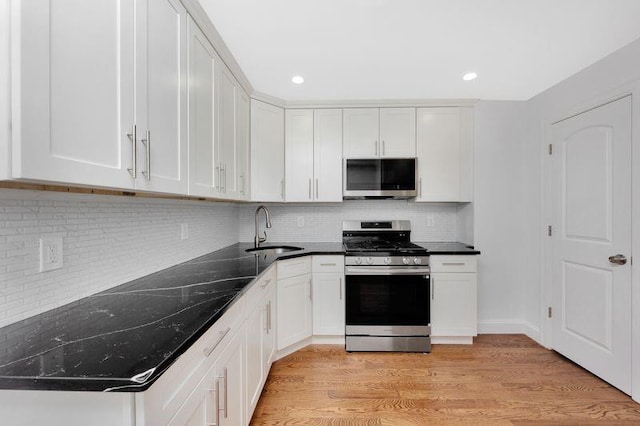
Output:
[[[240,330],[245,298],[237,300],[214,325],[144,392],[149,424],[166,424],[198,385],[205,372]]]

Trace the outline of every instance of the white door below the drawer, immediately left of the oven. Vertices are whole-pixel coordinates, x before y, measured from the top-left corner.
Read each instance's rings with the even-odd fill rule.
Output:
[[[313,274],[313,334],[344,336],[344,274]]]

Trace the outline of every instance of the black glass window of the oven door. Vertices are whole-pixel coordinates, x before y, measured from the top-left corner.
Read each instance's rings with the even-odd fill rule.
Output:
[[[347,275],[347,325],[428,325],[423,275]]]

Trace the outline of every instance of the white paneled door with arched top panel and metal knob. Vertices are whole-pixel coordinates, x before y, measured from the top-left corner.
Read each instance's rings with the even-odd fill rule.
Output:
[[[553,348],[631,392],[631,98],[553,125]]]

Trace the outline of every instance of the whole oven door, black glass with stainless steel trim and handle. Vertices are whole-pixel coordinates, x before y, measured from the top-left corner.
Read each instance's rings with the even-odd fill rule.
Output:
[[[429,268],[345,268],[346,334],[428,336]]]

